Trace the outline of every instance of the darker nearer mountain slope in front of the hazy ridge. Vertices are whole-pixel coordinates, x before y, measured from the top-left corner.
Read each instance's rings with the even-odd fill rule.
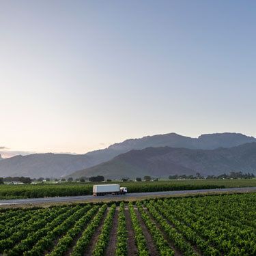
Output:
[[[175,174],[220,175],[230,171],[256,174],[256,143],[216,150],[190,150],[173,147],[148,147],[120,154],[108,162],[68,177],[103,175],[106,178],[168,177]]]

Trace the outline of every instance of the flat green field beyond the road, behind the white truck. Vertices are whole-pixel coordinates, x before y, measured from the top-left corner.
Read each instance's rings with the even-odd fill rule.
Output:
[[[128,188],[128,193],[192,190],[208,188],[237,188],[256,186],[248,180],[171,180],[158,182],[113,182]],[[104,184],[107,184],[104,182]],[[91,195],[93,183],[0,185],[0,199],[63,197]]]

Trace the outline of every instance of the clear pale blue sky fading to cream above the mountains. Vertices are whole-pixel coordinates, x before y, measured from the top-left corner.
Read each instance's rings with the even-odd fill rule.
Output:
[[[0,154],[256,137],[255,29],[255,1],[0,0]]]

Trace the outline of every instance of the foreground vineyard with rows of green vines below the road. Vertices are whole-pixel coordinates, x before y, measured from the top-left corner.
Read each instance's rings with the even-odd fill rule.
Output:
[[[2,209],[2,255],[256,255],[256,194]]]

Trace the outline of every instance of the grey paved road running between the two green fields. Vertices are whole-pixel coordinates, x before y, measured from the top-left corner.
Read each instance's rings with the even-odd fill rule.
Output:
[[[104,197],[93,197],[92,195],[83,195],[76,197],[44,197],[44,198],[29,198],[29,199],[10,199],[0,200],[0,205],[24,205],[37,203],[65,203],[75,201],[95,201],[96,199],[136,199],[141,197],[165,196],[165,195],[184,195],[184,194],[203,194],[203,193],[223,193],[223,192],[256,192],[256,187],[249,188],[214,188],[200,190],[176,190],[176,191],[157,191],[147,193],[128,193],[126,195],[105,195]]]

